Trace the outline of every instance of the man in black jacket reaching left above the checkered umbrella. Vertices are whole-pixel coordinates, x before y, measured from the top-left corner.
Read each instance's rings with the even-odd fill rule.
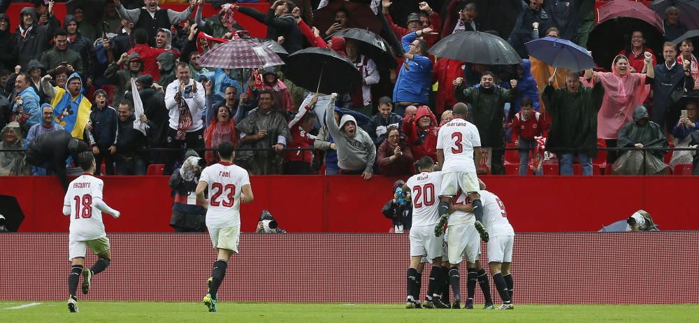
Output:
[[[244,15],[249,15],[254,20],[257,20],[267,25],[268,39],[277,40],[280,36],[284,37],[282,47],[293,54],[294,52],[303,49],[303,35],[296,26],[296,20],[291,15],[291,11],[296,8],[296,5],[291,1],[278,0],[272,3],[266,14],[259,12],[251,7],[234,6],[235,10],[240,11]]]

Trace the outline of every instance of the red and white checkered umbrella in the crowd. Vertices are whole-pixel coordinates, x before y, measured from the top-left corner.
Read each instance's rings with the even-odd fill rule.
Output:
[[[255,69],[282,65],[282,59],[262,43],[233,39],[201,55],[199,65],[222,69]]]

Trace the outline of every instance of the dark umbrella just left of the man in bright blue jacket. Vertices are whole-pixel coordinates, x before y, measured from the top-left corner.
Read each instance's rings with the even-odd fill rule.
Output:
[[[374,34],[371,31],[359,28],[343,29],[333,36],[343,37],[345,39],[354,39],[361,43],[361,54],[373,59],[376,64],[387,69],[395,69],[398,65],[396,54],[389,43],[381,36]]]

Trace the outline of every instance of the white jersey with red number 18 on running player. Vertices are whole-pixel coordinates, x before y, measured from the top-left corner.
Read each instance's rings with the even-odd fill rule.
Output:
[[[68,192],[63,199],[64,206],[71,207],[71,241],[87,241],[107,236],[102,223],[102,212],[94,203],[102,199],[101,179],[83,174],[68,185]]]

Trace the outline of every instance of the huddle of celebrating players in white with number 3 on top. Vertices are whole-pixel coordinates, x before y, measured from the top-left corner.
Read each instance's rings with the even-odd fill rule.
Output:
[[[466,105],[457,103],[454,120],[440,127],[437,139],[436,171],[430,157],[417,161],[418,172],[403,185],[412,201],[410,268],[406,308],[461,308],[459,264],[466,257],[468,298],[473,308],[475,282],[485,296],[484,309],[494,308],[485,270],[480,266],[480,241],[488,244],[488,264],[498,294],[499,310],[512,310],[512,246],[514,229],[507,221],[505,205],[485,190],[477,178],[475,160],[480,159],[478,129],[466,121]],[[438,199],[440,200],[438,202]],[[446,229],[446,230],[445,230]],[[445,232],[446,231],[446,232]],[[432,264],[427,295],[420,303],[424,262]],[[449,304],[449,286],[454,301]]]

